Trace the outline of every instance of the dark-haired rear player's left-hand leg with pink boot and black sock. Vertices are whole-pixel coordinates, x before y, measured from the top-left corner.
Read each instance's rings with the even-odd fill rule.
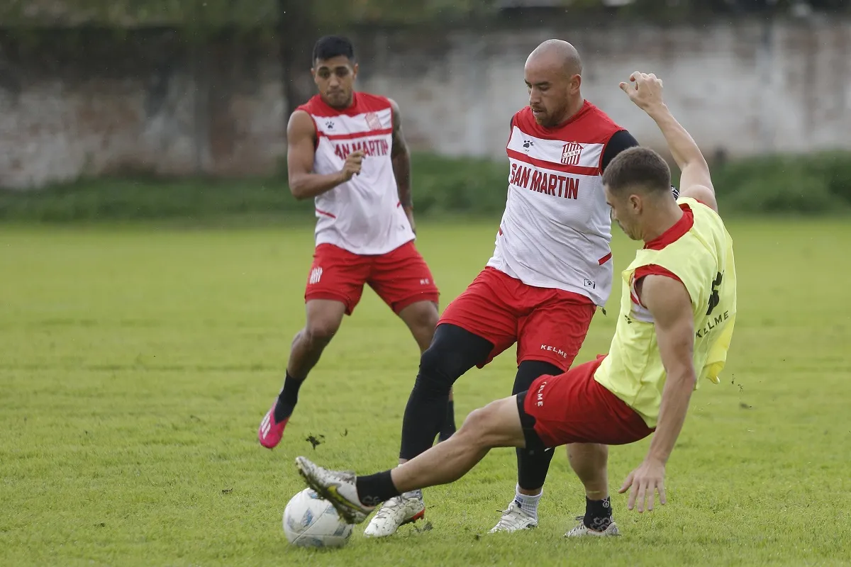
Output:
[[[299,388],[313,366],[316,366],[323,350],[331,342],[331,337],[340,329],[346,305],[329,299],[311,299],[307,302],[306,311],[307,324],[293,339],[283,388],[257,430],[260,445],[267,449],[281,442],[283,428],[287,426],[299,400]]]

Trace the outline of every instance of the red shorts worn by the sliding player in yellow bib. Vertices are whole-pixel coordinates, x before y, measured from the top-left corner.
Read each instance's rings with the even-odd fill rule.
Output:
[[[629,405],[594,379],[603,358],[558,376],[538,377],[526,392],[517,394],[527,446],[626,445],[654,432]]]

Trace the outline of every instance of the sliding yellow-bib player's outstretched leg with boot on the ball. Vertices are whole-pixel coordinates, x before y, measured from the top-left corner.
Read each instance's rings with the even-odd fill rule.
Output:
[[[343,519],[359,524],[380,502],[460,479],[494,447],[525,445],[517,396],[511,396],[471,412],[452,437],[383,473],[357,477],[319,467],[304,456],[296,457],[295,463],[307,485],[331,502]]]

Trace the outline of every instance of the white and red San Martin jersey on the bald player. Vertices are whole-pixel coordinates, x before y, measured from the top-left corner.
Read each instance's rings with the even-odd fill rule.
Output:
[[[588,101],[556,128],[540,126],[528,106],[514,115],[508,199],[488,266],[606,303],[613,270],[603,150],[623,129]]]

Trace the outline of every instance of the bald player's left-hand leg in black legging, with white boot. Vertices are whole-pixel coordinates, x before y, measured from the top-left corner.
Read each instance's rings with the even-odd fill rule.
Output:
[[[434,444],[446,418],[452,384],[465,371],[485,360],[493,348],[492,343],[459,326],[437,326],[431,346],[420,358],[420,372],[405,407],[400,462],[413,459]],[[425,513],[422,490],[419,487],[403,490],[402,494],[386,499],[363,535],[391,536],[400,526],[422,518]]]

